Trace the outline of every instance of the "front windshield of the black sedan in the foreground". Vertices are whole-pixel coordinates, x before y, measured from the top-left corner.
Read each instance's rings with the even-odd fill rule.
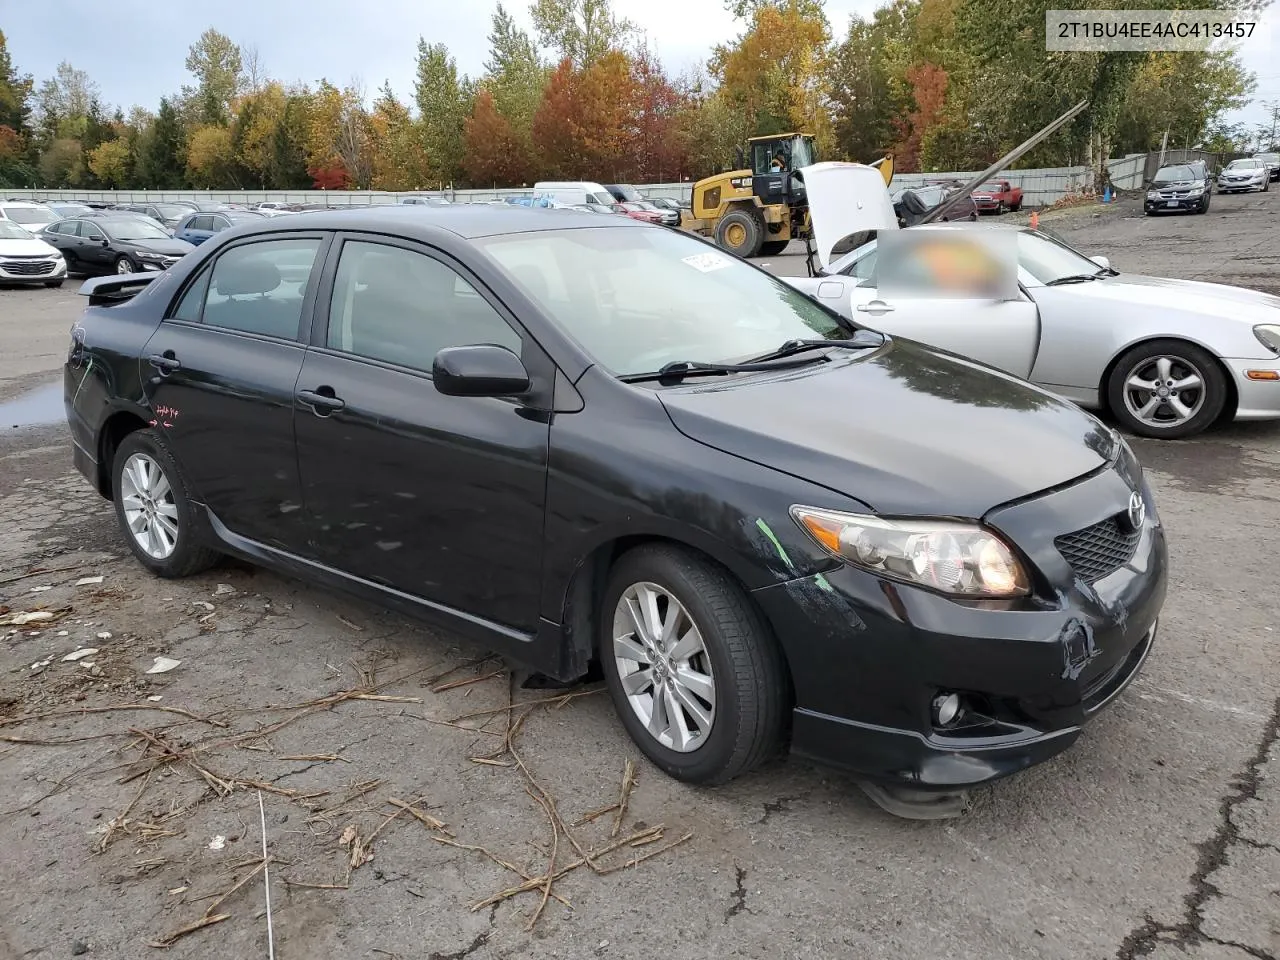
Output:
[[[585,228],[476,244],[617,376],[732,362],[855,329],[799,291],[673,230]]]

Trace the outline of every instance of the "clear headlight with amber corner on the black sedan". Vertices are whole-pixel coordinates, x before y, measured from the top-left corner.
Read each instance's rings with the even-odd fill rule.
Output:
[[[886,520],[792,507],[791,516],[837,559],[956,596],[1023,596],[1030,580],[1012,550],[970,524]]]

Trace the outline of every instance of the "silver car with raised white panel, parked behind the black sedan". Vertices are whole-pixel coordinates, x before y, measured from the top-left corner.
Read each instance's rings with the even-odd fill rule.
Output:
[[[1044,229],[947,223],[899,233],[874,168],[824,163],[800,175],[820,268],[817,276],[783,279],[855,323],[1108,410],[1143,436],[1280,417],[1280,297],[1121,274]],[[890,287],[886,276],[908,271],[878,262],[881,247],[901,256],[896,241],[906,233],[940,248],[948,237],[1000,239],[1014,274],[1007,291]]]

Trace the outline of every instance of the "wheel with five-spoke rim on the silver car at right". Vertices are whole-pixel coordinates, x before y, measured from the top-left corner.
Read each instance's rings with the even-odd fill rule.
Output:
[[[1207,429],[1226,406],[1226,375],[1211,353],[1185,340],[1151,340],[1111,371],[1111,412],[1140,436],[1180,440]]]

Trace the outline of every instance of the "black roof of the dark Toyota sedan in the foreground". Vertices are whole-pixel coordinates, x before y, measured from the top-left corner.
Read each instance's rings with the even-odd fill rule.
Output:
[[[435,230],[447,230],[462,239],[575,228],[645,229],[644,225],[622,216],[602,221],[599,214],[580,212],[567,207],[513,207],[507,204],[503,206],[453,204],[440,207],[419,204],[384,204],[356,210],[306,210],[282,220],[284,219],[262,218],[262,223],[255,223],[253,227],[259,227],[264,232],[297,230],[301,229],[301,224],[306,224],[308,228],[320,230],[369,230],[371,233],[394,228],[406,236],[420,234],[422,237],[428,237]]]

